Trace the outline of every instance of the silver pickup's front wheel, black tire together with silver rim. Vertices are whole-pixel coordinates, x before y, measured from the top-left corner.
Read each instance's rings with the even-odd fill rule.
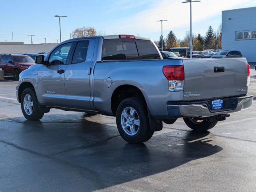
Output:
[[[40,120],[44,113],[40,112],[36,93],[33,88],[26,88],[21,95],[21,110],[27,120]]]

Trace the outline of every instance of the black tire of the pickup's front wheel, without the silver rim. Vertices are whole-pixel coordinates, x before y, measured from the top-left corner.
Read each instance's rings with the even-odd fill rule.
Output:
[[[30,97],[32,98],[32,102],[33,102],[32,114],[27,114],[27,112],[24,109],[24,98],[26,95],[30,95]],[[36,93],[33,88],[26,88],[22,92],[20,105],[21,105],[22,113],[27,120],[38,121],[38,120],[42,119],[42,117],[44,116],[44,113],[40,112],[40,110],[39,110],[38,100],[37,100]]]

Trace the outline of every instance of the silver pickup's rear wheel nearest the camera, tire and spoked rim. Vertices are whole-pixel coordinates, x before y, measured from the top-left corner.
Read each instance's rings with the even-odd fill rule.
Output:
[[[124,99],[116,111],[118,132],[128,143],[140,144],[149,140],[153,131],[149,128],[145,102],[136,97]]]

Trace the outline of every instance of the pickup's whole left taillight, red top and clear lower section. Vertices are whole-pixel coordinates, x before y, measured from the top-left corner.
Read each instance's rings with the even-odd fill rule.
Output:
[[[163,74],[169,81],[169,91],[183,91],[184,89],[184,67],[183,65],[163,66]]]

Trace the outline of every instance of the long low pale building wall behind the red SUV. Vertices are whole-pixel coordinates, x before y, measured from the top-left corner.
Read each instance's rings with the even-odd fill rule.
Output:
[[[39,53],[39,52],[49,52],[54,48],[55,43],[47,43],[47,44],[0,44],[0,54],[1,53]]]

